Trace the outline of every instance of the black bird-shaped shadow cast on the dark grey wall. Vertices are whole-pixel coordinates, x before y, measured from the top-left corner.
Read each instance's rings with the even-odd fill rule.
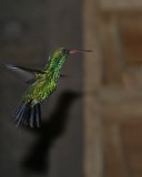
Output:
[[[63,92],[48,122],[43,122],[40,129],[31,131],[31,133],[37,134],[38,139],[21,162],[22,169],[39,174],[48,171],[49,162],[47,160],[50,159],[50,149],[54,140],[63,134],[70,106],[80,96],[81,94],[77,92]]]

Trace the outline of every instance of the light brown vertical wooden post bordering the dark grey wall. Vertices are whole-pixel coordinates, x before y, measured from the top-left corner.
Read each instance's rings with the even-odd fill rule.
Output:
[[[99,11],[97,0],[83,2],[84,54],[84,177],[102,177],[102,128],[95,92],[101,86],[101,51],[99,40]]]

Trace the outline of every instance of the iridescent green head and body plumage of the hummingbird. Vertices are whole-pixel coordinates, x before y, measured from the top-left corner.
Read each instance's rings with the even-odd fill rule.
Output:
[[[67,54],[62,53],[62,49],[57,49],[50,55],[50,61],[41,74],[37,75],[29,90],[23,95],[22,102],[34,105],[48,98],[57,88],[60,70],[67,59]]]

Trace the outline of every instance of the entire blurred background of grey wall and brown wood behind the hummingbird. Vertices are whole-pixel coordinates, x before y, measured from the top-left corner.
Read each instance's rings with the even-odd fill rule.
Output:
[[[39,129],[16,128],[27,85],[0,77],[0,176],[142,176],[142,1],[0,0],[0,63],[43,69],[55,46],[90,49],[65,62]]]

